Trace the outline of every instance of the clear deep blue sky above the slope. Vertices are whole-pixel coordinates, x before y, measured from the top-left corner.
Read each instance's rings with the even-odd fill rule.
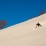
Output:
[[[46,10],[46,0],[0,0],[0,20],[6,20],[8,26],[36,17]]]

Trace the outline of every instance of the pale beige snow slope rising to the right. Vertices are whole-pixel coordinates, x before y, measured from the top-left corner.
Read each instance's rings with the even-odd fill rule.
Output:
[[[0,30],[0,46],[46,46],[46,13]]]

